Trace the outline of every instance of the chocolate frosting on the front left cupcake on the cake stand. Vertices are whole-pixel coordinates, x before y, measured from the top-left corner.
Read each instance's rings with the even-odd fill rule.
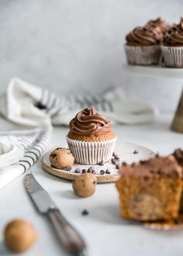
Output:
[[[127,36],[127,44],[140,43],[142,45],[159,44],[163,40],[163,34],[158,26],[138,26]]]

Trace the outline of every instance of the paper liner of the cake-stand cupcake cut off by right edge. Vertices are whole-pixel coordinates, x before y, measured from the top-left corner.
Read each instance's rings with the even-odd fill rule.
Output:
[[[161,46],[161,50],[167,67],[183,67],[183,47]]]

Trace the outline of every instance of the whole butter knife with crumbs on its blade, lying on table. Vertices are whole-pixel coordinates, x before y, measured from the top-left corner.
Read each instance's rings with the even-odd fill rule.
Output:
[[[85,241],[78,231],[67,222],[50,195],[36,181],[36,178],[32,174],[26,175],[24,185],[38,212],[46,215],[50,220],[65,250],[73,255],[84,255]]]

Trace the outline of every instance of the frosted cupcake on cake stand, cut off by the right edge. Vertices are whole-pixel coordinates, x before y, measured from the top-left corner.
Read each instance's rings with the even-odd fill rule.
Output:
[[[161,50],[167,67],[183,67],[183,17],[166,33]]]

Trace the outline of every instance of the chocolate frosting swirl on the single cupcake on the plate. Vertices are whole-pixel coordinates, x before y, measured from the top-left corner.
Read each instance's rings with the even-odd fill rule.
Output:
[[[95,109],[83,109],[69,123],[71,133],[78,135],[98,136],[112,130],[111,122],[105,116],[99,115]]]

